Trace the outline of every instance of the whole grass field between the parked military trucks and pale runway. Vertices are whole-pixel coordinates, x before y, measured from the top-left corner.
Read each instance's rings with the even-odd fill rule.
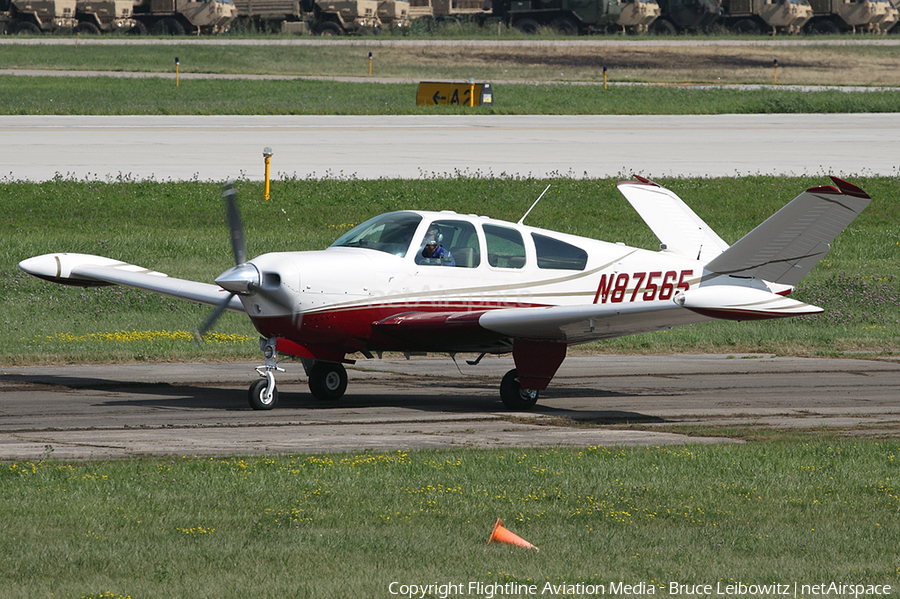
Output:
[[[0,44],[0,64],[18,70],[111,71],[161,77],[20,77],[0,75],[0,114],[455,114],[459,106],[416,106],[422,80],[493,82],[485,114],[724,114],[898,112],[892,89],[797,91],[732,84],[778,82],[828,86],[900,86],[892,45],[653,46],[640,39],[598,47],[569,45],[260,45]],[[246,40],[244,40],[246,41]],[[484,40],[482,40],[484,41]],[[520,40],[521,41],[521,40]],[[562,43],[560,40],[557,42]],[[621,40],[620,40],[621,41]],[[654,40],[650,40],[653,42]],[[743,40],[746,42],[747,40]],[[862,41],[872,42],[871,37]],[[878,40],[874,40],[877,42]],[[279,42],[285,42],[279,44]],[[554,40],[546,40],[554,43]],[[515,42],[511,42],[515,43]],[[368,52],[373,74],[368,77]],[[613,84],[603,89],[603,68]],[[187,79],[193,74],[357,77],[333,80]],[[620,83],[652,86],[619,86]],[[691,85],[724,84],[722,89]]]

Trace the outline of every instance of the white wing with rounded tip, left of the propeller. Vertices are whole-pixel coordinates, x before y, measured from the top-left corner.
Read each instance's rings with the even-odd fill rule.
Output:
[[[218,285],[177,279],[134,264],[90,254],[44,254],[23,260],[19,268],[28,274],[64,285],[127,285],[209,306],[219,306],[228,297],[228,292]],[[231,298],[226,309],[245,311],[237,297]]]

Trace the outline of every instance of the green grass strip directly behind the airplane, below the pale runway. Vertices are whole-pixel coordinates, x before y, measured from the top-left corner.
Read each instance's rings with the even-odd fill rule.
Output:
[[[549,181],[457,176],[415,181],[324,178],[242,181],[248,251],[327,247],[353,224],[391,210],[441,209],[517,221],[552,183],[528,223],[653,249],[649,229],[615,180]],[[590,352],[765,352],[835,355],[900,351],[900,198],[892,177],[857,177],[872,204],[835,241],[795,297],[820,305],[815,317],[713,322],[587,346]],[[661,179],[733,243],[802,190],[825,177]],[[0,363],[259,359],[257,335],[242,315],[216,325],[216,342],[195,346],[209,308],[124,287],[53,285],[17,268],[24,258],[69,251],[100,254],[212,281],[231,266],[219,186],[197,181],[0,182]],[[90,223],[90,226],[87,224]]]

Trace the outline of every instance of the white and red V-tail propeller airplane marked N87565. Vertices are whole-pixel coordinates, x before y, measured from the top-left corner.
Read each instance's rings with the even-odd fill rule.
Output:
[[[832,177],[833,185],[807,189],[729,247],[674,193],[637,179],[618,188],[659,238],[659,251],[530,227],[528,213],[509,223],[406,210],[371,218],[322,251],[247,260],[228,185],[235,266],[215,285],[85,254],[19,266],[55,283],[130,285],[216,306],[203,332],[224,310],[247,314],[265,355],[250,386],[254,409],[278,401],[279,354],[301,358],[313,396],[334,400],[347,388],[348,354],[397,351],[481,354],[472,364],[512,352],[500,397],[527,410],[570,345],[712,319],[822,312],[786,296],[870,201]]]

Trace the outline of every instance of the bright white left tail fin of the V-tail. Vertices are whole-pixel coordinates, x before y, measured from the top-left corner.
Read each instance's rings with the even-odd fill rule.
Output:
[[[693,260],[712,260],[728,249],[728,244],[681,198],[649,179],[636,178],[638,181],[620,181],[619,191],[665,250]]]

